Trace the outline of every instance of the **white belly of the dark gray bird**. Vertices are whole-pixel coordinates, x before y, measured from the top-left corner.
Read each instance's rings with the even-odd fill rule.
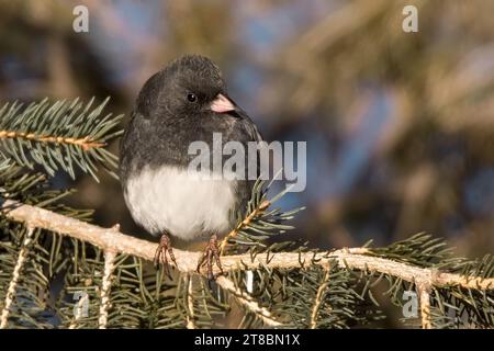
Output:
[[[134,220],[147,231],[167,230],[184,240],[227,231],[236,203],[234,181],[204,179],[176,167],[144,168],[128,179],[124,196]]]

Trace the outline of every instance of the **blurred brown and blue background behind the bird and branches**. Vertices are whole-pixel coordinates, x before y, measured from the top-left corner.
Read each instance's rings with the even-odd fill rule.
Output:
[[[78,4],[89,33],[72,30]],[[417,33],[402,30],[407,4]],[[1,103],[110,95],[127,121],[184,53],[218,63],[267,140],[307,141],[306,191],[280,202],[307,207],[292,238],[328,249],[429,231],[459,254],[494,251],[494,1],[0,0]],[[56,185],[142,235],[101,178]]]

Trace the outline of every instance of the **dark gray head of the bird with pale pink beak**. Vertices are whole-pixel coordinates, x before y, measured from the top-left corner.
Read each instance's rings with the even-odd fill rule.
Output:
[[[136,112],[151,118],[223,113],[234,109],[225,97],[220,68],[207,57],[186,55],[147,80],[137,98]]]

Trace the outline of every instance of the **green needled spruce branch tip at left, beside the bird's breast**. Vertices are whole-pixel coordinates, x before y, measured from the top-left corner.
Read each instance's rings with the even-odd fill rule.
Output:
[[[76,169],[96,180],[97,165],[116,177],[116,157],[104,147],[122,134],[116,131],[123,115],[102,116],[109,99],[93,107],[94,99],[83,105],[74,101],[31,103],[25,109],[16,102],[0,109],[0,141],[4,152],[19,166],[41,165],[49,176],[64,170],[72,179]]]

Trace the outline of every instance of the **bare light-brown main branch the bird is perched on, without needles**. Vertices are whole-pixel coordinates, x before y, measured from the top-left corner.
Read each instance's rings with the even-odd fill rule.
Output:
[[[61,235],[66,235],[100,247],[105,251],[122,252],[153,261],[156,242],[142,240],[124,235],[115,228],[102,228],[57,213],[5,201],[2,205],[5,215],[16,222],[23,222],[30,227],[44,228]],[[194,273],[200,252],[173,249],[178,269],[184,273]],[[417,285],[430,286],[459,285],[475,290],[494,290],[494,278],[482,279],[479,276],[463,276],[454,273],[440,272],[435,269],[415,267],[408,263],[396,262],[390,259],[373,257],[366,248],[340,249],[333,252],[278,252],[269,257],[258,254],[254,260],[250,254],[224,256],[222,265],[225,272],[237,269],[256,269],[261,264],[270,268],[296,268],[300,262],[318,260],[318,264],[327,268],[332,260],[340,267],[349,267],[357,270],[385,273],[401,278]],[[218,269],[214,268],[215,273]]]

